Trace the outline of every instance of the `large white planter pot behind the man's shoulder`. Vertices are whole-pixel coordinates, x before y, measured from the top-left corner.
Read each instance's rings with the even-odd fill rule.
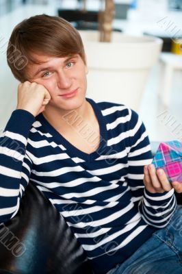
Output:
[[[88,60],[87,97],[124,103],[138,111],[146,80],[156,64],[162,40],[114,33],[112,42],[98,42],[96,31],[80,31]]]

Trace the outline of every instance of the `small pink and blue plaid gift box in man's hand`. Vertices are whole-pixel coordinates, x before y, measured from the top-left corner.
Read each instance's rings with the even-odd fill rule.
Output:
[[[182,183],[182,143],[177,140],[161,142],[152,164],[156,169],[164,169],[169,182]]]

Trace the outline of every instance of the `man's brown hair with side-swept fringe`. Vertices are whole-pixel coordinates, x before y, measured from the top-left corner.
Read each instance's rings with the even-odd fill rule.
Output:
[[[14,28],[7,50],[7,60],[16,79],[29,79],[31,64],[40,64],[38,55],[66,57],[79,54],[86,64],[79,32],[63,18],[45,14],[32,16]]]

